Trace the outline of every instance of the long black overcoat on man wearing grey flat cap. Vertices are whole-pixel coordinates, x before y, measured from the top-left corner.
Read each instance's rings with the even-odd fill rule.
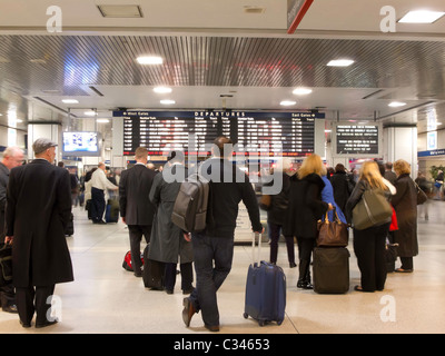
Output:
[[[73,280],[65,228],[71,219],[68,170],[44,159],[11,169],[6,208],[7,236],[13,236],[16,287]]]

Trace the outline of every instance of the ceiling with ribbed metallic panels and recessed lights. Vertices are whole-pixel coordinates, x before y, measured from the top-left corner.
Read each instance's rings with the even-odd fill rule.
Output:
[[[80,119],[91,108],[108,118],[117,108],[227,108],[318,109],[330,120],[416,123],[419,132],[432,119],[445,127],[445,17],[384,33],[387,0],[315,0],[288,34],[286,0],[136,0],[142,18],[123,19],[103,18],[97,8],[122,0],[63,0],[57,1],[62,32],[50,33],[53,2],[0,0],[0,125],[9,126],[10,116],[23,130],[32,121],[66,123],[68,111]],[[419,8],[390,3],[397,19]],[[251,7],[264,12],[247,13]],[[422,8],[445,11],[445,3],[427,0]],[[141,66],[141,55],[164,63]],[[326,66],[338,58],[355,62]],[[172,92],[155,93],[156,86]],[[295,96],[297,87],[313,92]],[[176,103],[160,105],[165,98]],[[279,105],[290,99],[296,105]],[[395,100],[406,105],[388,107]]]

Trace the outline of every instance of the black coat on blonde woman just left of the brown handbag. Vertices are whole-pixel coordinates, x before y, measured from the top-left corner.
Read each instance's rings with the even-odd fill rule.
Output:
[[[317,221],[328,210],[328,204],[322,200],[325,182],[315,174],[299,179],[297,175],[290,178],[289,208],[283,226],[284,236],[297,238],[315,238]]]

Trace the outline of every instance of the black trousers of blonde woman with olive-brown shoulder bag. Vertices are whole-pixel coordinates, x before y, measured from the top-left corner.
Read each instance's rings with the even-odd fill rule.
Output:
[[[365,230],[354,229],[354,253],[362,274],[362,288],[366,291],[383,290],[386,281],[385,246],[389,224]]]

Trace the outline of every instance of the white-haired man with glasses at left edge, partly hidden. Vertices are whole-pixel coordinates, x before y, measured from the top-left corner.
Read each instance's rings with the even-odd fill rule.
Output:
[[[4,209],[7,205],[7,187],[9,172],[23,164],[23,150],[19,147],[8,147],[0,162],[0,247],[4,245]],[[16,291],[12,284],[0,286],[0,306],[3,312],[17,313]]]

